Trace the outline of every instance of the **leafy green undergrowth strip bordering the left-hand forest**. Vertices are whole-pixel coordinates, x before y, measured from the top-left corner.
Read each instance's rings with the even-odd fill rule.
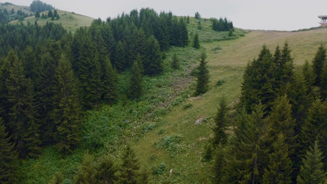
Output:
[[[174,53],[180,61],[178,70],[171,67]],[[116,159],[121,153],[122,145],[130,140],[137,141],[142,135],[155,129],[156,120],[192,95],[189,89],[193,80],[190,71],[195,67],[200,53],[201,50],[191,47],[171,48],[164,60],[164,72],[154,77],[144,76],[143,95],[137,102],[126,99],[125,91],[130,73],[120,74],[119,98],[116,103],[85,112],[82,122],[83,141],[80,147],[67,157],[62,157],[52,146],[43,148],[38,159],[26,159],[21,162],[17,171],[22,173],[19,181],[47,183],[56,171],[60,171],[65,182],[72,183],[85,152],[95,156],[109,153]],[[176,144],[172,143],[166,147],[172,155],[179,151],[179,144]]]

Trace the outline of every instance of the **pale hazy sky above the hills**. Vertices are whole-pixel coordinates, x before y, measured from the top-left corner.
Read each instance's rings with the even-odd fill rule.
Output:
[[[29,6],[32,0],[0,0]],[[41,0],[57,9],[93,18],[116,17],[132,9],[153,8],[177,16],[227,17],[237,28],[298,30],[319,26],[318,15],[327,15],[327,0]]]

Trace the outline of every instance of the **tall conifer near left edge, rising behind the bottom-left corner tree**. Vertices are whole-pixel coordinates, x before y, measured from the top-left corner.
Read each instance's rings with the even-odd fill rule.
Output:
[[[16,143],[16,148],[20,156],[25,155],[23,137],[27,131],[26,117],[24,114],[26,82],[24,68],[16,56],[9,70],[9,78],[6,80],[6,86],[8,89],[8,101],[10,102],[9,126],[12,130],[12,138]]]

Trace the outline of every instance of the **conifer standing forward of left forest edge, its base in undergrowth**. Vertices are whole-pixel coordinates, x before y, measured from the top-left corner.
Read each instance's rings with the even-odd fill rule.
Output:
[[[142,74],[136,61],[132,66],[131,77],[129,81],[128,95],[131,99],[137,101],[142,94]]]

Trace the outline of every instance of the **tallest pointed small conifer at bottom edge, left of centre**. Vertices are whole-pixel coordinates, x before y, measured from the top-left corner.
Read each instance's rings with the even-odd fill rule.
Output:
[[[123,164],[120,168],[120,183],[137,183],[139,164],[132,148],[128,145],[122,154]]]

